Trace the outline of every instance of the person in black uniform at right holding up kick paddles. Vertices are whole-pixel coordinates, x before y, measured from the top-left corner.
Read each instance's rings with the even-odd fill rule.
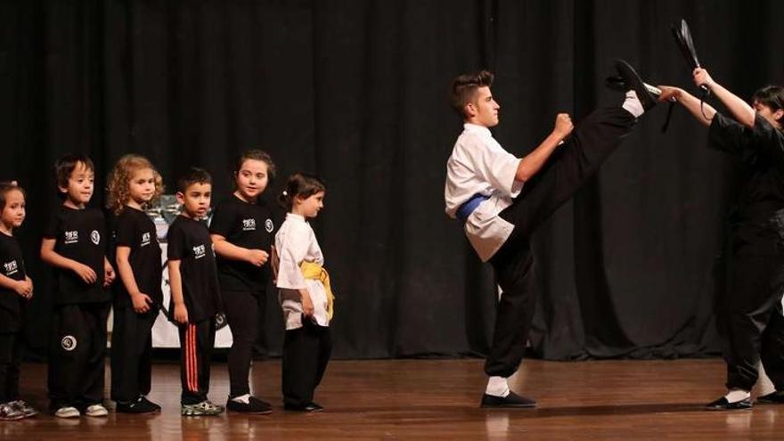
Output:
[[[715,308],[728,391],[707,408],[750,408],[760,358],[776,391],[757,403],[784,404],[784,88],[763,87],[749,105],[706,69],[694,69],[693,77],[723,102],[731,118],[677,87],[662,87],[661,99],[680,102],[709,127],[708,145],[736,155],[748,176],[730,217],[728,289]]]

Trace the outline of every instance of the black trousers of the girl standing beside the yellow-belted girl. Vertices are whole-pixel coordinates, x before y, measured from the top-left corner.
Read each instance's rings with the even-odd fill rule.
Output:
[[[250,291],[224,290],[226,322],[232,330],[232,348],[229,350],[229,397],[250,393],[249,374],[253,346],[257,342],[261,318],[258,315],[258,297]]]

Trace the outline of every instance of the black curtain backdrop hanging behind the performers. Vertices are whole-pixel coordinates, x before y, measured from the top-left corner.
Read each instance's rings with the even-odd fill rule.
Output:
[[[186,167],[232,190],[235,156],[269,151],[279,175],[327,182],[315,220],[338,293],[335,355],[486,352],[494,281],[444,214],[445,160],[461,122],[457,74],[488,68],[522,156],[554,116],[617,105],[602,86],[625,58],[653,83],[690,90],[669,25],[686,18],[714,78],[741,96],[784,83],[779,1],[376,0],[0,3],[0,179],[29,195],[18,232],[36,294],[33,354],[45,354],[50,271],[37,256],[57,204],[51,166],[68,151],[97,167],[94,205],[124,153],[173,188]],[[547,359],[715,353],[724,214],[740,178],[706,130],[660,106],[535,236],[540,302],[531,343]],[[272,355],[282,344],[275,296]]]

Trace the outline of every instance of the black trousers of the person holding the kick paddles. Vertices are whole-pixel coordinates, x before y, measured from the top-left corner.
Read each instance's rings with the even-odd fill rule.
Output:
[[[716,323],[727,363],[727,388],[751,390],[757,362],[784,390],[784,256],[732,257],[729,290],[716,302]]]

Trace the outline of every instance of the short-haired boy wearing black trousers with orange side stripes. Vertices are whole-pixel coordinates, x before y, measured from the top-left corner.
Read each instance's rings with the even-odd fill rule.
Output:
[[[170,319],[179,326],[181,412],[186,416],[217,415],[224,407],[207,399],[209,362],[215,343],[215,316],[221,310],[215,251],[207,226],[212,178],[192,168],[177,181],[183,212],[168,228]]]

